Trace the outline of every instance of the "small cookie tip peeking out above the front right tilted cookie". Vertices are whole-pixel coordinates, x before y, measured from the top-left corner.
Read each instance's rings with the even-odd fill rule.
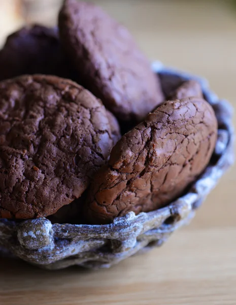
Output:
[[[177,89],[170,94],[171,100],[181,100],[184,98],[198,97],[203,98],[200,84],[196,80],[183,82]]]

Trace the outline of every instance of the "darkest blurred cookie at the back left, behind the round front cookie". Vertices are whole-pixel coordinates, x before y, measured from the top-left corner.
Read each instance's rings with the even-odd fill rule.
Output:
[[[73,78],[56,28],[23,27],[7,38],[0,51],[0,80],[23,74],[50,74]]]

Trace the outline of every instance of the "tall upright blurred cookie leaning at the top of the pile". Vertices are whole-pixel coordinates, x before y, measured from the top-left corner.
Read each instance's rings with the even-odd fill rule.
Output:
[[[59,32],[83,85],[119,119],[140,121],[164,100],[132,36],[99,7],[65,0]]]

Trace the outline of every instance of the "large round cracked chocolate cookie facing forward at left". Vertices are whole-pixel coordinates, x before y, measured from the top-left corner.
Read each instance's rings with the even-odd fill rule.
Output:
[[[0,218],[46,217],[79,198],[112,146],[104,105],[80,85],[0,82]]]

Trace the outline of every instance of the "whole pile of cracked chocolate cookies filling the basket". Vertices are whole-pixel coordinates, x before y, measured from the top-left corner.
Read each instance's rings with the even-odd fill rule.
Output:
[[[161,82],[93,4],[10,35],[0,67],[0,218],[112,223],[181,196],[213,154],[200,85]]]

